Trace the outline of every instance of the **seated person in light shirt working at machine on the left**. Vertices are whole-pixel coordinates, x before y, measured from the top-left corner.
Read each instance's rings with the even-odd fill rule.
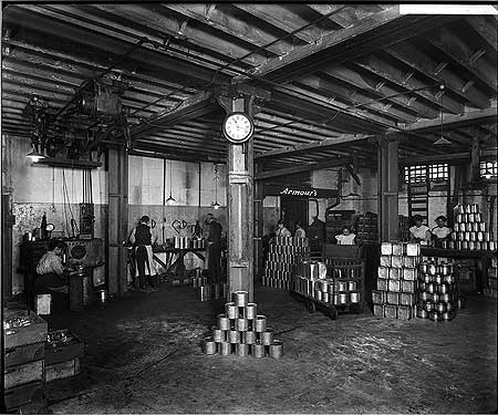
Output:
[[[51,294],[52,310],[69,309],[69,273],[64,273],[61,258],[66,248],[62,241],[51,241],[49,251],[37,264],[33,294]]]

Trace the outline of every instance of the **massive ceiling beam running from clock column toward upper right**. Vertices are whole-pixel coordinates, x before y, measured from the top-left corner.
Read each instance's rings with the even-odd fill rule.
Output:
[[[252,75],[272,82],[286,82],[312,73],[323,65],[342,63],[421,34],[448,21],[448,17],[401,15],[397,6],[374,13],[350,28],[324,34],[320,42],[290,51],[252,71]],[[454,18],[453,18],[454,19]],[[237,76],[237,81],[247,81]]]

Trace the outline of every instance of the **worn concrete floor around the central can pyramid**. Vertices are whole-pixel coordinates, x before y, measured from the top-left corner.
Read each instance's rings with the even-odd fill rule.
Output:
[[[448,323],[309,314],[259,288],[259,313],[284,342],[281,360],[207,356],[200,340],[222,301],[189,287],[129,293],[50,317],[87,344],[82,373],[49,384],[53,413],[492,413],[496,300],[470,298]]]

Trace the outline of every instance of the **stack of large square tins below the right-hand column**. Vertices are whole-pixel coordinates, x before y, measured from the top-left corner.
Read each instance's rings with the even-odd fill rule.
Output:
[[[374,315],[400,320],[415,317],[419,243],[383,242],[377,290],[372,291]]]

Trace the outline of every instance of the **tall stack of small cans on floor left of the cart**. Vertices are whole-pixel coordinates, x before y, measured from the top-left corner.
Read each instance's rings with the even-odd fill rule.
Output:
[[[308,238],[276,237],[264,264],[262,284],[289,290],[298,264],[310,257]]]

